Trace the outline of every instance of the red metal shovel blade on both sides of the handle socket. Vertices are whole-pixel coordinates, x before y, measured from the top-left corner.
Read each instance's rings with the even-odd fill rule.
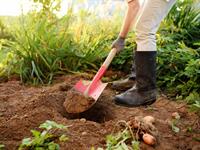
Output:
[[[86,81],[86,80],[80,80],[79,82],[76,83],[74,88],[79,91],[80,93],[84,93],[87,87],[90,85],[91,81]],[[105,87],[107,86],[108,83],[102,83],[101,81],[98,81],[94,88],[90,89],[88,92],[88,96],[92,97],[95,101],[99,98]]]

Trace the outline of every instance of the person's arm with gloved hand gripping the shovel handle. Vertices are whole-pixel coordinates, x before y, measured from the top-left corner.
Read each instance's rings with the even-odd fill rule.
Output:
[[[137,13],[139,11],[139,0],[126,0],[128,4],[128,9],[124,17],[124,21],[118,35],[118,38],[112,43],[112,48],[116,48],[118,52],[124,49],[125,38],[134,22]]]

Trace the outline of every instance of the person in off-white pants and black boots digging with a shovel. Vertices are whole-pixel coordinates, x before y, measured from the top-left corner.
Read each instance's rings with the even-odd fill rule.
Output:
[[[132,22],[138,18],[135,26],[137,48],[131,75],[112,85],[116,89],[130,89],[116,95],[114,101],[128,107],[150,105],[156,101],[156,32],[176,0],[146,0],[142,8],[139,0],[126,1],[128,9],[112,48],[118,52],[124,49]]]

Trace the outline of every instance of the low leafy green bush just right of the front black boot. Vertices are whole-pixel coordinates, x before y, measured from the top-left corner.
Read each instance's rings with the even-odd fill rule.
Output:
[[[172,96],[188,96],[200,91],[199,53],[184,44],[162,47],[158,52],[158,85]]]

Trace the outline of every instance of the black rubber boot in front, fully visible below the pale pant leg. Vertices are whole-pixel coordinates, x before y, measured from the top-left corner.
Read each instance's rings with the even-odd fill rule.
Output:
[[[135,52],[136,82],[126,92],[115,96],[115,103],[133,107],[156,101],[156,51]]]

